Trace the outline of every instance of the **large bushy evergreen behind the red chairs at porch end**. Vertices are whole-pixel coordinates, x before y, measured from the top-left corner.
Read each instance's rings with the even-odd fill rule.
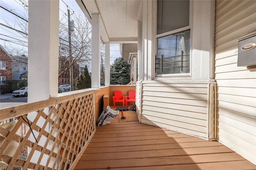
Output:
[[[124,58],[116,58],[110,66],[110,84],[128,84],[130,82],[129,64]]]

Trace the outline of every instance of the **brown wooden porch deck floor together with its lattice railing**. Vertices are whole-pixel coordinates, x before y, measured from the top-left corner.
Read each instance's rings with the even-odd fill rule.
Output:
[[[22,169],[255,169],[217,141],[116,117],[96,127],[103,96],[135,86],[67,92],[58,98],[1,109],[1,168]],[[110,105],[112,101],[110,100]],[[119,113],[121,114],[121,113]],[[127,117],[128,112],[124,112]],[[30,118],[26,121],[26,117]],[[42,121],[44,120],[44,121]],[[27,127],[24,133],[24,125]],[[30,130],[32,129],[32,131]],[[23,129],[23,131],[22,131]],[[24,149],[28,154],[24,155]]]

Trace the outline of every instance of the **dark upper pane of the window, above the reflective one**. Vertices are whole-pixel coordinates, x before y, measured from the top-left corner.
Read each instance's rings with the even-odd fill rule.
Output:
[[[157,34],[189,26],[189,0],[157,1]]]

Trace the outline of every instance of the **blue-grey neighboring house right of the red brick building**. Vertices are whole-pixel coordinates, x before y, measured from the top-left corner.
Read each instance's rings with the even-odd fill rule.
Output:
[[[28,57],[12,56],[12,80],[28,80]]]

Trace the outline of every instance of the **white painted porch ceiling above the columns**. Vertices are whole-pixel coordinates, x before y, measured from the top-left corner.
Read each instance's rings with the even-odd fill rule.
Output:
[[[76,0],[88,20],[99,13],[103,41],[111,43],[136,43],[138,41],[138,20],[142,0]]]

